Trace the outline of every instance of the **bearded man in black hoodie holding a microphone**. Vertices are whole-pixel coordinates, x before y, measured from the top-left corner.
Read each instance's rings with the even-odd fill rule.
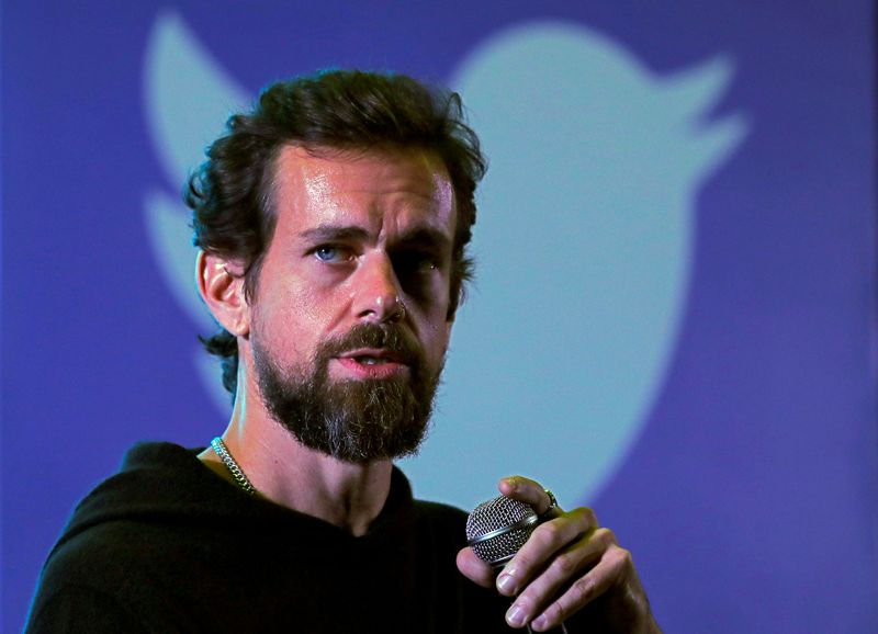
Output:
[[[545,521],[496,576],[393,466],[429,420],[484,169],[458,97],[403,76],[300,78],[229,120],[187,199],[232,420],[209,449],[130,452],[29,631],[658,631],[589,510],[503,479]]]

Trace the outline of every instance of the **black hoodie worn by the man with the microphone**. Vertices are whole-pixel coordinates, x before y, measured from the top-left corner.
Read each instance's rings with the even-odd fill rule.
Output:
[[[457,570],[465,514],[394,468],[369,532],[250,497],[170,443],[138,444],[77,507],[26,632],[504,632],[508,599]]]

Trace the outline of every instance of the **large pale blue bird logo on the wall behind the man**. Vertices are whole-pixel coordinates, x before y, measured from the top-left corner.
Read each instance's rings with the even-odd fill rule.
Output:
[[[432,432],[405,461],[420,497],[472,506],[503,475],[593,498],[646,420],[673,353],[689,276],[695,201],[744,138],[708,118],[725,57],[651,72],[620,43],[566,23],[487,36],[450,83],[491,160],[474,240],[477,281],[458,317]],[[145,200],[158,265],[201,332],[179,191],[228,114],[248,103],[175,14],[147,50],[145,94],[168,179]],[[205,389],[217,369],[193,347]]]

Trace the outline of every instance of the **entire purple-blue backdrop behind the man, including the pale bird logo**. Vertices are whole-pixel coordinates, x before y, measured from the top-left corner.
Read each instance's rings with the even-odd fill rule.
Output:
[[[359,66],[459,88],[492,163],[416,493],[524,472],[593,506],[667,632],[878,631],[874,24],[865,0],[4,2],[2,630],[128,445],[225,426],[179,203],[199,146],[267,82]]]

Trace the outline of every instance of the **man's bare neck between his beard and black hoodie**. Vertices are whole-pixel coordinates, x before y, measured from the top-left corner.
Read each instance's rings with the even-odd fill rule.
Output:
[[[260,496],[362,535],[390,494],[390,461],[352,464],[308,449],[260,412],[236,407],[223,440]],[[234,482],[212,449],[199,455],[212,471]]]

